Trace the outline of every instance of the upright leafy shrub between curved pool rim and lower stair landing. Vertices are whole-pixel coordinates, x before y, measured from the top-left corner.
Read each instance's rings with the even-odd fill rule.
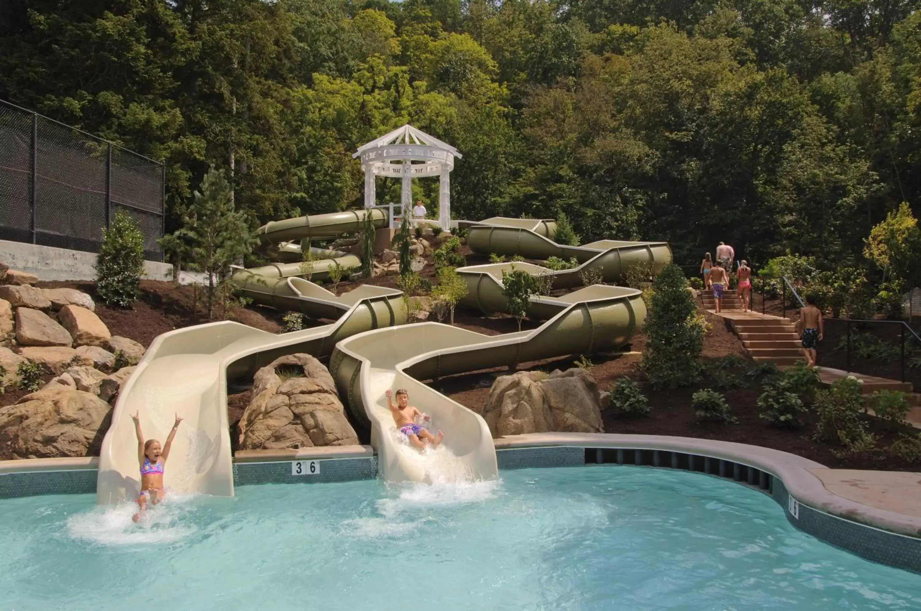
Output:
[[[827,390],[815,394],[815,410],[819,416],[813,439],[827,444],[851,447],[861,444],[866,425],[860,420],[863,396],[860,383],[853,375],[838,380]]]

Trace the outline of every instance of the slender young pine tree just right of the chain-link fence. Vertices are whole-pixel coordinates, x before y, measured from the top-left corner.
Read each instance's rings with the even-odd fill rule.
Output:
[[[204,175],[202,190],[182,215],[182,227],[171,236],[188,245],[192,263],[208,276],[208,318],[213,317],[216,284],[222,287],[227,269],[248,254],[256,240],[244,213],[234,209],[231,187],[223,170],[212,167]]]

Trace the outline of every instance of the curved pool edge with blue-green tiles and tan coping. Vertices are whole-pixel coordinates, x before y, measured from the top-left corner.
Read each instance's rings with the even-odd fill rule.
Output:
[[[238,457],[233,466],[234,485],[331,483],[378,477],[378,458],[367,446],[353,451],[345,448],[311,450],[265,455],[251,453]],[[94,493],[98,460],[0,462],[0,499]],[[292,461],[311,460],[320,463],[319,474],[292,474]],[[781,506],[790,524],[799,530],[861,558],[921,573],[921,538],[906,534],[918,533],[917,525],[912,524],[915,519],[875,510],[834,495],[807,471],[808,468],[821,466],[799,456],[758,446],[681,437],[544,433],[496,440],[496,460],[500,470],[582,467],[600,463],[679,468],[734,479],[771,496]],[[790,502],[788,488],[792,489],[796,502]],[[828,511],[830,504],[838,510],[836,513]],[[869,524],[844,517],[849,515],[858,516]],[[893,515],[902,518],[898,528],[873,524],[875,518],[877,523],[892,525]],[[893,532],[898,530],[903,532]]]

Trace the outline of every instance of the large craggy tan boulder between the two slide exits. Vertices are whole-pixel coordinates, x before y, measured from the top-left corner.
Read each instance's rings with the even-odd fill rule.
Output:
[[[280,372],[298,376],[282,381]],[[309,354],[288,354],[262,367],[252,394],[239,420],[242,450],[358,444],[332,375]]]

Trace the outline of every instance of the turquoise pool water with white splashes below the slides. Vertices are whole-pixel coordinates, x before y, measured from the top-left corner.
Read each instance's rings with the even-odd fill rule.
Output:
[[[92,495],[0,501],[0,608],[921,608],[921,576],[826,546],[729,481],[501,476],[246,486],[174,497],[142,525]]]

